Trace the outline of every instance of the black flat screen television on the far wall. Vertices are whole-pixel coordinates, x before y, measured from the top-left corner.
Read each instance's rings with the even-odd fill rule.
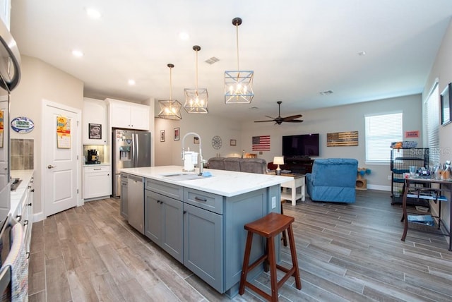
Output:
[[[319,156],[319,133],[283,136],[283,156]]]

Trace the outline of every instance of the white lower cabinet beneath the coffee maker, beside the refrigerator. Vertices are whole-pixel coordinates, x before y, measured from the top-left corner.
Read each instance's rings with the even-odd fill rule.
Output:
[[[83,199],[105,198],[112,194],[112,173],[109,165],[83,168]]]

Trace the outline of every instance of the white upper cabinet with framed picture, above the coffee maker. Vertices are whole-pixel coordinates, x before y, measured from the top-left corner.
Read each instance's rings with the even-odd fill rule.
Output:
[[[107,104],[101,99],[83,98],[83,145],[106,145]]]

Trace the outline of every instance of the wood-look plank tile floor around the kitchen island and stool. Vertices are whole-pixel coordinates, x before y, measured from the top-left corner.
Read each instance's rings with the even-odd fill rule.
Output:
[[[355,204],[298,201],[302,290],[293,278],[280,301],[452,301],[452,252],[438,231],[400,241],[400,205],[388,192],[357,191]],[[119,215],[119,200],[85,203],[33,225],[30,301],[229,301]],[[289,249],[282,259],[290,263]],[[268,274],[254,281],[269,288]],[[246,291],[233,301],[261,301]]]

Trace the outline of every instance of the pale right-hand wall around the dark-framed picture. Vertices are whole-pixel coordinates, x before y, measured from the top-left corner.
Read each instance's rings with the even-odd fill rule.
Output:
[[[429,97],[429,92],[435,83],[435,80],[439,80],[439,92],[441,93],[448,83],[452,82],[452,23],[449,23],[448,30],[444,39],[441,42],[441,47],[439,49],[438,55],[434,61],[432,71],[430,71],[427,82],[424,86],[424,92],[422,93],[422,99],[427,99]],[[440,100],[438,99],[438,102]],[[440,114],[440,112],[438,112]],[[441,116],[441,115],[440,115]],[[444,127],[439,128],[439,145],[441,147],[439,161],[442,163],[446,160],[452,161],[452,123]],[[450,195],[449,195],[450,197]],[[450,200],[450,199],[449,199]],[[438,205],[432,203],[432,207],[438,211]],[[441,207],[441,217],[444,219],[446,226],[451,224],[450,217],[451,203],[444,203]],[[436,212],[437,213],[437,212]]]

